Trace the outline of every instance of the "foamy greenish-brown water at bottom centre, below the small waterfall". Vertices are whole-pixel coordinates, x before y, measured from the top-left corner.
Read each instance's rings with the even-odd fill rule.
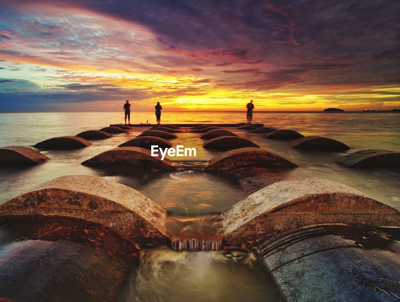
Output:
[[[282,301],[248,250],[144,250],[123,301]]]

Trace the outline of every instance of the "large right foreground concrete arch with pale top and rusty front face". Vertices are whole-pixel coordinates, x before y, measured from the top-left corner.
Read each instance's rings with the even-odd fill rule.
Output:
[[[222,213],[228,245],[257,245],[282,232],[322,224],[400,227],[400,212],[328,179],[290,179],[261,189]]]

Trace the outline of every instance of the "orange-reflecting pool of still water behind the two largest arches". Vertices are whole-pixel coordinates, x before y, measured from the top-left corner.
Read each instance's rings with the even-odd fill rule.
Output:
[[[146,181],[125,175],[106,179],[137,189],[172,215],[220,213],[248,195],[233,181],[204,171],[155,172]]]

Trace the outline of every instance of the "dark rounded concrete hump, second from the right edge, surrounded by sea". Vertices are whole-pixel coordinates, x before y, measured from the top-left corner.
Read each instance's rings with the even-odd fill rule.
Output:
[[[312,150],[325,150],[325,151],[344,151],[350,149],[350,147],[335,139],[328,137],[312,135],[306,136],[295,141],[292,141],[290,147],[297,149],[312,149]]]

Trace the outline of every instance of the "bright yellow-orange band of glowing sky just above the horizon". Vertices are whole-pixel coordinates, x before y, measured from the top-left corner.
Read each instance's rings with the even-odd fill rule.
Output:
[[[14,64],[27,64],[26,60],[15,60]],[[28,63],[29,64],[29,63]],[[41,65],[35,62],[35,66],[49,67],[49,64]],[[60,66],[53,66],[60,68]],[[69,65],[62,66],[66,70],[73,72],[72,81],[78,81],[81,84],[111,84],[118,85],[126,89],[145,90],[149,93],[155,93],[157,96],[136,101],[143,109],[152,109],[153,103],[160,101],[164,106],[168,106],[171,110],[243,110],[244,106],[250,99],[254,99],[256,110],[310,110],[320,111],[327,107],[339,107],[347,110],[360,110],[358,107],[365,107],[365,99],[368,95],[373,95],[374,99],[382,99],[380,106],[385,106],[384,101],[394,97],[393,93],[398,93],[400,87],[391,85],[383,87],[352,87],[346,86],[342,89],[329,86],[302,87],[299,90],[290,87],[281,89],[273,89],[267,91],[254,91],[249,89],[234,90],[232,88],[218,87],[212,83],[195,83],[202,77],[194,77],[191,75],[177,76],[173,74],[147,74],[144,72],[126,72],[118,69],[101,70],[93,66]],[[48,75],[52,76],[52,75]],[[62,75],[58,75],[62,79]],[[210,77],[208,77],[210,78]],[[47,82],[42,82],[46,83]],[[245,85],[245,83],[244,83]],[[190,87],[200,88],[200,91],[186,91]],[[322,91],[324,90],[324,91]],[[390,91],[390,93],[387,93]],[[163,94],[164,92],[164,94]],[[360,93],[362,92],[362,93]],[[367,92],[367,93],[366,93]],[[129,99],[127,93],[126,99]],[[342,103],[341,99],[346,99],[346,103]],[[101,106],[113,109],[118,107],[119,99],[109,99],[103,101]],[[391,106],[398,106],[400,102],[391,102]],[[368,107],[376,107],[371,104]],[[374,108],[375,108],[374,107]],[[384,108],[384,107],[383,107]],[[376,108],[381,109],[381,108]]]

